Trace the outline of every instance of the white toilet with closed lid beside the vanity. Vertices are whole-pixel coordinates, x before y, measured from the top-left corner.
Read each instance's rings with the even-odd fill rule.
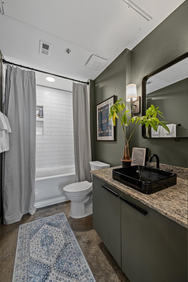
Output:
[[[91,170],[110,167],[110,164],[90,162]],[[63,193],[70,200],[70,216],[83,218],[93,214],[92,182],[82,181],[71,183],[63,188]]]

